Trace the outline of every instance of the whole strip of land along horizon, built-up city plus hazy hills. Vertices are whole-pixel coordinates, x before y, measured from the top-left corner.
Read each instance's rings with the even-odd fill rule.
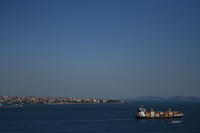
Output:
[[[0,96],[0,105],[23,104],[118,104],[132,102],[200,102],[200,97],[173,96],[156,97],[143,96],[131,99],[101,99],[101,98],[75,98],[75,97],[36,97],[36,96]],[[0,107],[1,107],[0,106]]]

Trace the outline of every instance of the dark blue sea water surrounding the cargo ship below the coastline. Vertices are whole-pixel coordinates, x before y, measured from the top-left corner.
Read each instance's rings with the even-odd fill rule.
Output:
[[[135,120],[141,103],[26,105],[0,108],[0,133],[200,133],[199,103],[148,103],[184,111],[172,120]]]

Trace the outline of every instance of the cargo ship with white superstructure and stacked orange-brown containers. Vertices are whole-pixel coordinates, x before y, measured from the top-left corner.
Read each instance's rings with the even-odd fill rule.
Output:
[[[138,108],[136,113],[136,119],[170,119],[170,118],[181,118],[184,117],[184,113],[181,111],[172,111],[169,108],[167,111],[155,111],[153,108],[146,110],[143,106]]]

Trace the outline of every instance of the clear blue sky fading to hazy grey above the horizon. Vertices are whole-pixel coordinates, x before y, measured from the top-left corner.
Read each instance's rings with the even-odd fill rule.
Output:
[[[0,95],[200,96],[199,0],[1,0]]]

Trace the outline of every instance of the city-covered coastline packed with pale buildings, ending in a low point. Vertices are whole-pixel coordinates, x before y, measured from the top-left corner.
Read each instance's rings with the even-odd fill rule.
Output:
[[[1,104],[108,104],[122,103],[119,99],[74,98],[74,97],[34,97],[0,96]]]

